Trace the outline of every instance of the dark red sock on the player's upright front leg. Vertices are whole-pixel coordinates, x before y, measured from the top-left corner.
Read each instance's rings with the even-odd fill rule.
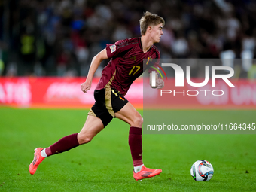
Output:
[[[133,157],[133,166],[142,163],[142,128],[131,126],[129,131],[129,146]]]

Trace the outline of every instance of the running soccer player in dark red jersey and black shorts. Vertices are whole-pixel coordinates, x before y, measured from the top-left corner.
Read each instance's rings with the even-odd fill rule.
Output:
[[[65,136],[48,148],[36,148],[34,160],[29,165],[29,172],[35,174],[38,165],[53,154],[62,153],[90,142],[113,117],[125,121],[130,125],[129,146],[133,159],[133,177],[136,181],[159,175],[161,169],[148,169],[142,162],[142,116],[124,97],[136,78],[148,66],[154,63],[143,64],[143,59],[160,59],[160,52],[154,43],[160,41],[163,35],[165,21],[157,14],[146,12],[139,20],[141,28],[140,38],[129,38],[107,44],[106,48],[93,57],[86,81],[81,84],[81,90],[87,93],[90,90],[93,75],[104,59],[111,59],[102,70],[102,77],[94,91],[96,100],[90,109],[87,120],[80,133]],[[162,79],[156,80],[157,88],[162,88]]]

